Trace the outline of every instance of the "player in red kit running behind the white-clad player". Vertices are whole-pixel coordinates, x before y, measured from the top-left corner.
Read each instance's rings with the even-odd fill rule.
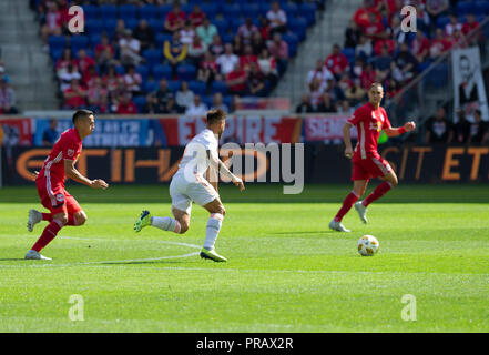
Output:
[[[64,131],[44,161],[44,165],[37,175],[35,184],[41,197],[42,205],[51,213],[41,213],[35,210],[29,211],[28,230],[32,232],[34,225],[41,221],[49,224],[26,254],[30,260],[51,260],[39,252],[48,245],[64,225],[82,225],[86,221],[86,214],[78,204],[77,200],[64,189],[64,180],[71,178],[93,189],[105,190],[109,185],[105,181],[90,180],[74,168],[82,150],[82,140],[92,134],[95,129],[93,112],[79,110],[73,114],[73,129]]]

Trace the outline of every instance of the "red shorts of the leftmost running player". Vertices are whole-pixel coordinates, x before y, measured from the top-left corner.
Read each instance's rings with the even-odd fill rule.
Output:
[[[42,205],[52,214],[63,212],[74,214],[82,211],[78,201],[64,190],[62,183],[51,183],[47,178],[38,178],[35,184]]]

